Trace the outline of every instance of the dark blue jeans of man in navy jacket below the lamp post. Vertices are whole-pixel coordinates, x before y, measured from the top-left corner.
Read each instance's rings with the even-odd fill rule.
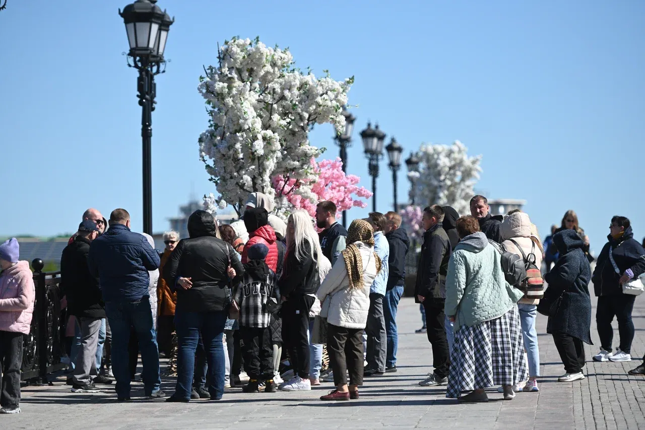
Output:
[[[159,390],[159,349],[155,328],[152,323],[152,309],[148,296],[136,302],[106,302],[105,313],[112,329],[112,373],[117,380],[119,398],[130,397],[130,327],[134,327],[139,338],[141,362],[143,362],[144,393],[146,396]]]

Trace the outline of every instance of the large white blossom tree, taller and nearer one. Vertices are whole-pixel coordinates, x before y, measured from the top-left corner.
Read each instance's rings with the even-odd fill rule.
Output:
[[[199,79],[209,116],[199,155],[219,192],[215,200],[239,213],[250,192],[275,197],[276,175],[302,181],[294,192],[315,200],[307,184],[315,183],[311,159],[321,150],[310,145],[308,132],[323,123],[344,130],[342,107],[353,77],[335,81],[326,70],[319,78],[303,73],[288,49],[268,48],[259,38],[225,41],[218,60]]]

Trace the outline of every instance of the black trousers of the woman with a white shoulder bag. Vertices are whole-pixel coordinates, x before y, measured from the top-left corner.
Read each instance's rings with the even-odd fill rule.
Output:
[[[634,309],[636,296],[631,294],[614,294],[600,296],[596,309],[596,324],[600,336],[600,346],[606,351],[611,351],[613,328],[611,322],[615,316],[618,320],[618,334],[620,336],[620,351],[631,354],[631,342],[634,340],[634,323],[631,320],[631,311]]]

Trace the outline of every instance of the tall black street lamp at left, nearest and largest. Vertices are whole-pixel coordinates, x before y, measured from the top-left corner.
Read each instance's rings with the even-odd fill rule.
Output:
[[[125,6],[123,17],[128,34],[130,51],[128,66],[139,70],[137,90],[141,114],[141,139],[143,141],[143,231],[152,234],[152,111],[155,110],[157,85],[154,77],[166,70],[163,52],[168,30],[175,22],[165,10],[155,5],[157,0],[136,0]],[[132,58],[132,64],[129,59]]]

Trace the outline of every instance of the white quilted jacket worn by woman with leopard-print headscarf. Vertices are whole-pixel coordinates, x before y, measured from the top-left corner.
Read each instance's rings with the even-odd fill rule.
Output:
[[[364,329],[370,309],[370,286],[376,278],[376,259],[374,248],[362,242],[354,242],[361,251],[363,262],[363,285],[360,289],[350,290],[345,260],[339,256],[332,270],[327,274],[317,296],[324,302],[330,296],[327,322],[347,329]],[[324,305],[326,308],[327,305]],[[326,311],[326,309],[325,309]],[[324,312],[321,316],[325,316]]]

